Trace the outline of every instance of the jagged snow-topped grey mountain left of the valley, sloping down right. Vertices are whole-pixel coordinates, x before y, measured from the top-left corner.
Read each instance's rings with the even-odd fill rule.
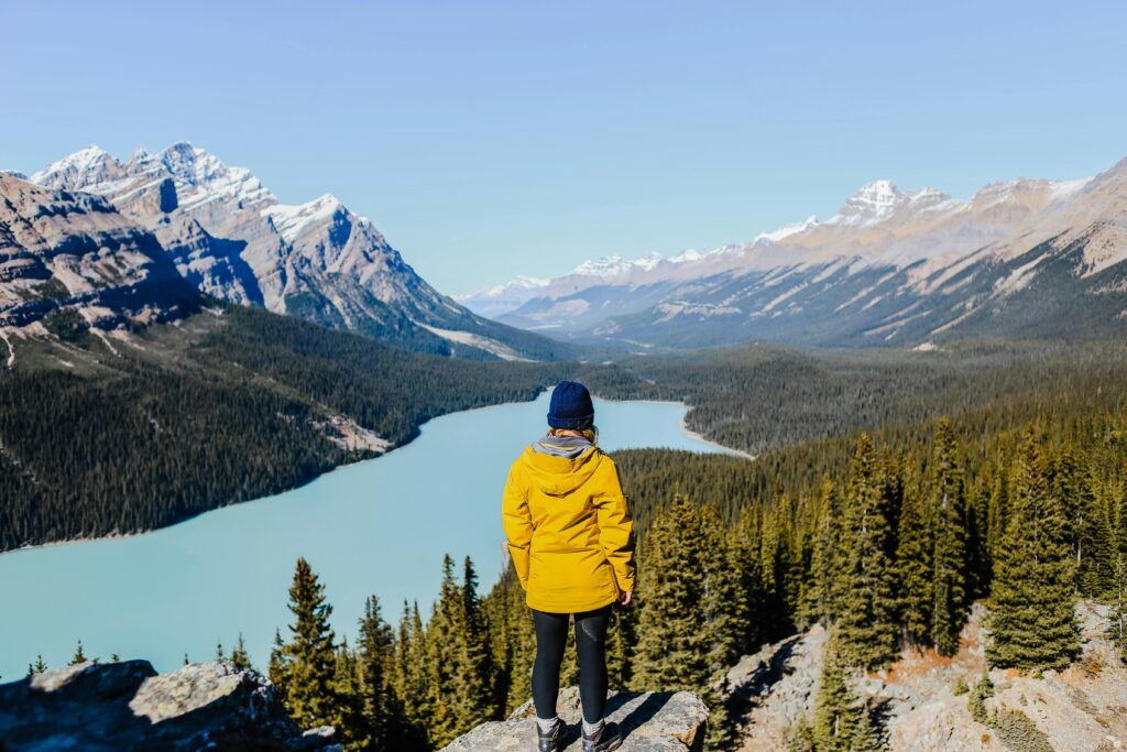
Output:
[[[30,180],[106,198],[208,295],[428,352],[522,360],[567,350],[438,293],[334,196],[283,204],[248,169],[187,142],[125,161],[87,147]]]

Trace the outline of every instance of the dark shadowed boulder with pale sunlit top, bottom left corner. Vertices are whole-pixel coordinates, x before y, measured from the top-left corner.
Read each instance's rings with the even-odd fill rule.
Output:
[[[148,661],[81,663],[0,684],[5,752],[339,752],[331,727],[302,733],[274,685],[230,663],[157,674]]]

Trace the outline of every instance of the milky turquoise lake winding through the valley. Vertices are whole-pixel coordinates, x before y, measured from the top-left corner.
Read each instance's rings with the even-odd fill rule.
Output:
[[[722,451],[682,428],[673,402],[595,400],[600,444]],[[403,600],[424,619],[442,557],[473,558],[482,593],[504,563],[500,493],[509,463],[543,432],[548,396],[431,421],[410,444],[277,496],[224,507],[156,532],[0,555],[0,681],[38,653],[64,665],[86,654],[147,658],[158,671],[187,654],[211,660],[242,632],[265,670],[286,591],[305,557],[332,604],[337,638],[355,639],[364,599],[397,623]]]

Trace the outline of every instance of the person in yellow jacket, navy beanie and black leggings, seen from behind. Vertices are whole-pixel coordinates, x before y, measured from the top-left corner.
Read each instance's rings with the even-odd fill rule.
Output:
[[[569,617],[575,617],[584,752],[622,743],[606,724],[606,623],[614,602],[630,603],[633,522],[619,474],[595,443],[595,408],[586,387],[552,390],[549,431],[513,462],[502,517],[516,575],[536,629],[532,698],[540,752],[564,747],[556,714]]]

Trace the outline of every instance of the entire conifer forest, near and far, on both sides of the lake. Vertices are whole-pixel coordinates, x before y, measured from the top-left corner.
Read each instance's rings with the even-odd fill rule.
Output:
[[[334,441],[331,416],[402,443],[436,415],[574,375],[604,397],[684,400],[690,426],[756,454],[614,455],[639,578],[615,610],[611,685],[698,692],[710,749],[733,744],[744,711],[725,682],[738,656],[816,623],[832,635],[822,691],[792,746],[817,752],[877,749],[879,718],[846,676],[904,648],[953,654],[975,602],[993,666],[1067,665],[1077,599],[1112,607],[1127,651],[1119,345],[464,362],[241,308],[136,342],[110,356],[79,336],[69,368],[25,353],[0,377],[0,547],[170,524],[371,455]],[[336,726],[349,750],[436,750],[529,698],[532,621],[512,569],[482,590],[472,561],[435,566],[436,602],[372,598],[345,635],[298,563],[292,620],[260,666],[295,720]],[[230,657],[248,663],[239,646]],[[577,671],[569,655],[564,683]],[[976,683],[973,709],[988,691]]]

